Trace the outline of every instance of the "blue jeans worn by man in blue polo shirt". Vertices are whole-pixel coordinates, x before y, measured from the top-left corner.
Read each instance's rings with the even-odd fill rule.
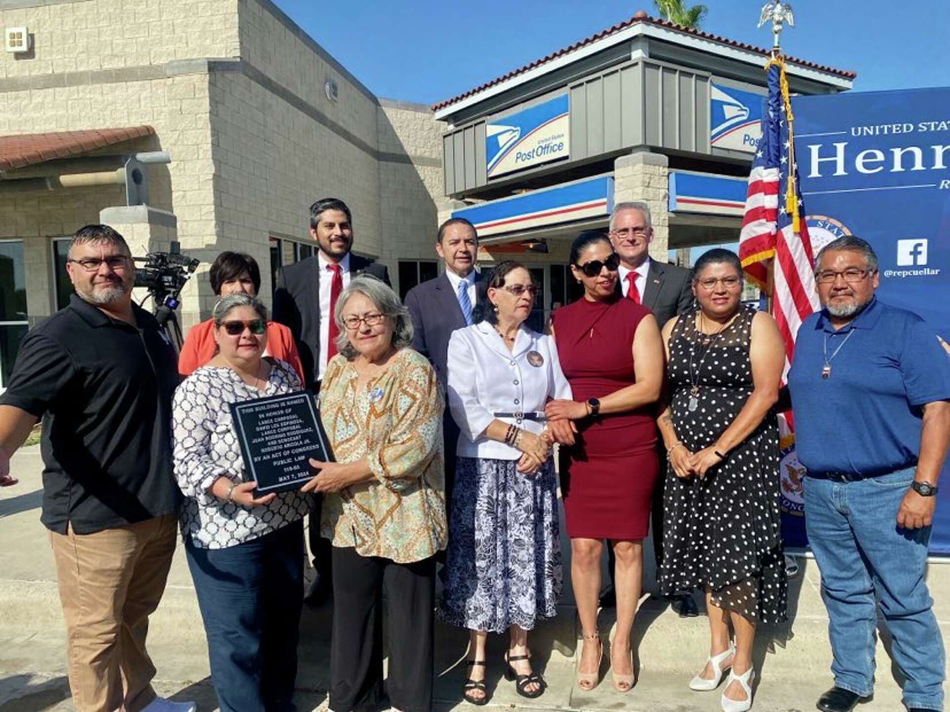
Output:
[[[904,704],[942,710],[943,641],[923,579],[930,527],[897,526],[913,478],[913,468],[854,482],[806,478],[805,522],[822,574],[835,684],[862,697],[873,691],[880,605],[906,678]]]

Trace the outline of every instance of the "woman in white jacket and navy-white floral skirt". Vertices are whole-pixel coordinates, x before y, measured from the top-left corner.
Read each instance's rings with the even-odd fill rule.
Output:
[[[558,482],[544,403],[571,398],[554,339],[523,326],[537,288],[518,262],[482,282],[474,323],[448,344],[448,403],[461,437],[449,518],[442,615],[469,628],[469,703],[485,704],[485,639],[508,630],[505,677],[535,698],[527,631],[557,613],[561,597]]]

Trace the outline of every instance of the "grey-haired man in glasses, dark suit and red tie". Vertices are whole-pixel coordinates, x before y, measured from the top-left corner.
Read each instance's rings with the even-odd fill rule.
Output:
[[[660,328],[677,314],[693,306],[692,272],[650,258],[653,241],[650,208],[642,202],[622,202],[610,216],[610,241],[620,257],[618,288],[626,299],[633,299],[653,311]],[[662,440],[658,440],[662,444]],[[653,499],[652,534],[656,568],[663,558],[663,482],[666,453],[660,453],[660,477]],[[613,563],[610,567],[614,570]],[[608,599],[613,591],[602,598]],[[680,615],[695,615],[696,606],[689,596],[674,596],[673,606]]]

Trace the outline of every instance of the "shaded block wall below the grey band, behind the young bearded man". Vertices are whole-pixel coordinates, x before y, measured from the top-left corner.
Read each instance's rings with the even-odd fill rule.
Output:
[[[309,240],[310,204],[334,196],[352,210],[354,250],[378,255],[376,159],[237,72],[211,78],[218,225],[228,249],[269,264],[268,236]],[[270,274],[261,294],[270,301]]]

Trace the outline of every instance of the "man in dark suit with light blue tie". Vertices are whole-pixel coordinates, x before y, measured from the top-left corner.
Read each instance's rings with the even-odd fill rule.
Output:
[[[439,228],[435,252],[439,253],[446,271],[413,287],[406,295],[406,307],[412,319],[412,347],[424,354],[435,367],[435,373],[446,392],[448,340],[452,331],[472,323],[476,285],[482,275],[475,271],[478,234],[464,217],[446,220]],[[455,445],[459,428],[446,407],[443,432],[446,442],[446,504],[451,505],[452,482],[455,480]]]

